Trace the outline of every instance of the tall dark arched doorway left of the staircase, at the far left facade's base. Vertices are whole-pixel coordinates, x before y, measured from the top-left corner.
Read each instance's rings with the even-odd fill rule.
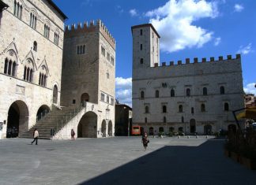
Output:
[[[7,138],[16,138],[28,129],[28,106],[18,100],[9,107],[7,118]]]

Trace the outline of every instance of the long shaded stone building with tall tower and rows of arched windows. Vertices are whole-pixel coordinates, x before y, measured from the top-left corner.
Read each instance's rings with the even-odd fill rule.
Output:
[[[183,131],[212,134],[235,128],[232,110],[244,107],[241,58],[210,57],[160,66],[152,24],[132,27],[133,125],[149,134]]]

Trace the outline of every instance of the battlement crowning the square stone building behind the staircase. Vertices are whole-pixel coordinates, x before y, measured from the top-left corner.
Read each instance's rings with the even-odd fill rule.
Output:
[[[67,35],[67,37],[69,37],[69,35],[76,35],[77,33],[89,33],[94,31],[100,31],[100,33],[104,35],[104,38],[107,39],[108,43],[115,49],[115,39],[101,20],[97,20],[96,23],[94,20],[90,20],[89,24],[88,21],[86,21],[84,24],[71,24],[65,27],[65,35]]]

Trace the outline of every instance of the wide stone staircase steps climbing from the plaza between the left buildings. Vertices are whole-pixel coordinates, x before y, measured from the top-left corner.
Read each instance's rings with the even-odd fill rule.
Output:
[[[32,138],[35,128],[39,131],[39,139],[51,139],[51,128],[55,129],[55,135],[60,131],[68,122],[77,115],[83,107],[62,107],[57,109],[54,107],[50,113],[37,121],[32,128],[24,131],[20,138]]]

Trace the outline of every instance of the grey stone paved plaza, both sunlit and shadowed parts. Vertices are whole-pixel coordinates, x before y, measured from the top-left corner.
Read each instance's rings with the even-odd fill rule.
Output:
[[[0,184],[256,184],[223,139],[0,140]]]

